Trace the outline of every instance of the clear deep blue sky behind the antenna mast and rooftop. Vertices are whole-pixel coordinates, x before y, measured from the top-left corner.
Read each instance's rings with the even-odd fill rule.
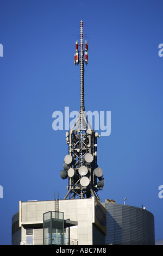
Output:
[[[98,139],[105,186],[98,195],[151,211],[163,239],[163,2],[145,0],[1,0],[0,244],[11,244],[19,200],[63,199],[60,178],[65,131],[52,129],[54,111],[80,107],[74,66],[80,20],[89,42],[85,108],[111,111],[111,135]]]

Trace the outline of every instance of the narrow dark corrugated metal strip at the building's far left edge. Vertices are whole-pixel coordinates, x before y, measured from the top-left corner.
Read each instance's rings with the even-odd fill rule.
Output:
[[[12,245],[20,245],[21,227],[19,227],[19,212],[12,216]]]

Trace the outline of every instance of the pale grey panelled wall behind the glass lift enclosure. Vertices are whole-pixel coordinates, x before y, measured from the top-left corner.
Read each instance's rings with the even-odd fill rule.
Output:
[[[94,206],[93,206],[94,207]],[[43,214],[54,211],[54,201],[22,202],[21,223],[43,223]],[[77,221],[77,227],[70,228],[70,237],[78,240],[78,245],[92,245],[92,199],[59,200],[59,211],[64,212],[64,219]],[[26,244],[26,229],[22,227],[22,241]],[[34,230],[34,244],[43,243],[41,229]]]

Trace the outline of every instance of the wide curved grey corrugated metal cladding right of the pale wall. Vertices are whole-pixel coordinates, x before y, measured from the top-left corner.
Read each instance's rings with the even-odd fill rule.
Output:
[[[102,203],[106,209],[105,244],[154,245],[154,216],[130,205]]]

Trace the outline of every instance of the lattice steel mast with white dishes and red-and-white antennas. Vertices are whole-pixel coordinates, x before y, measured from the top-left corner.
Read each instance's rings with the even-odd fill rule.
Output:
[[[87,41],[83,44],[83,21],[80,21],[80,45],[76,41],[74,54],[74,64],[80,64],[80,110],[77,121],[66,132],[68,155],[64,159],[64,170],[60,171],[62,179],[68,178],[68,192],[64,199],[68,196],[69,199],[91,196],[98,198],[97,191],[104,186],[103,171],[97,165],[97,137],[100,136],[88,123],[84,106],[84,64],[87,65],[88,62],[87,52]]]

